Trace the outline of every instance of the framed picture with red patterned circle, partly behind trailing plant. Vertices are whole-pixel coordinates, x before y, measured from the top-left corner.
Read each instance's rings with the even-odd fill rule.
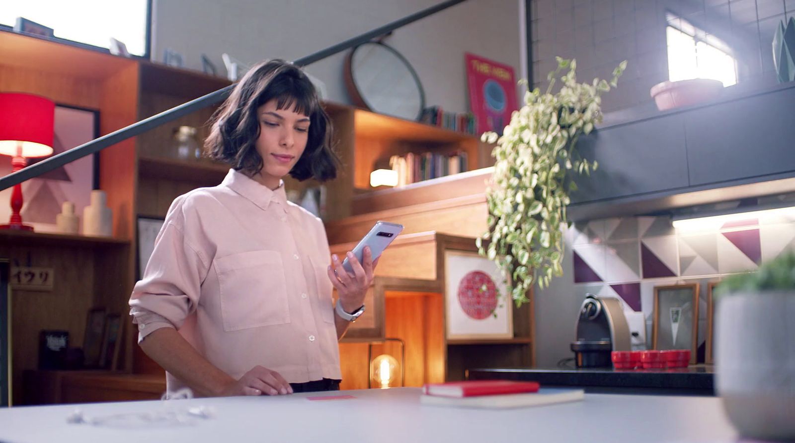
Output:
[[[513,338],[513,310],[507,300],[502,273],[494,262],[476,250],[444,250],[448,340]]]

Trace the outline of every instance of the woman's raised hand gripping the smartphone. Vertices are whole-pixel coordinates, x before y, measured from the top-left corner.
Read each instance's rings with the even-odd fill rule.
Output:
[[[332,265],[328,267],[328,279],[332,280],[332,285],[337,290],[338,303],[343,304],[343,310],[353,312],[364,304],[364,295],[367,288],[373,284],[373,272],[378,264],[378,259],[373,261],[373,254],[370,252],[369,246],[364,248],[363,263],[359,263],[353,252],[350,251],[347,252],[347,259],[351,264],[353,274],[343,268],[342,260],[339,260],[339,257],[334,254],[332,255]]]

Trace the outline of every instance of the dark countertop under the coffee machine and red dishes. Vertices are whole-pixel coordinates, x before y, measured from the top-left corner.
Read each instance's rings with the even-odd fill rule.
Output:
[[[467,379],[537,381],[544,386],[583,387],[588,393],[715,395],[712,365],[635,371],[613,368],[483,368],[467,371]]]

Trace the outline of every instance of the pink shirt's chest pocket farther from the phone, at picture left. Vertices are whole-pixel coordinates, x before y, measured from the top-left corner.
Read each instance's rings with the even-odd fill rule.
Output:
[[[285,268],[277,251],[250,251],[213,261],[227,332],[290,322]]]

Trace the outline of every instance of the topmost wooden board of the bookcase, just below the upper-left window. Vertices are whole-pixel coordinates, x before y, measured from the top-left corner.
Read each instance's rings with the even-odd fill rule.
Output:
[[[0,48],[4,65],[84,79],[107,79],[139,63],[134,59],[10,31],[0,31]]]

